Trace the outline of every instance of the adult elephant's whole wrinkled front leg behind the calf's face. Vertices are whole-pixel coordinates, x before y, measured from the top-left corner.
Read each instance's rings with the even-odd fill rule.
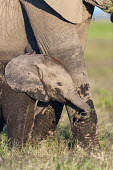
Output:
[[[42,53],[55,56],[64,63],[81,98],[89,104],[91,109],[94,109],[82,58],[83,47],[75,25],[65,21],[44,1],[33,1],[32,3],[27,1],[25,1],[24,7]],[[67,110],[74,137],[80,145],[81,143],[82,147],[98,145],[96,112],[93,110],[86,116],[77,107],[73,109],[73,106],[67,106]],[[80,117],[80,115],[82,116]]]

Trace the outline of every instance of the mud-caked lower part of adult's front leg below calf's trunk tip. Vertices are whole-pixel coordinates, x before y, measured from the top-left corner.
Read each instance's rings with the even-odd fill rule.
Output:
[[[69,118],[75,143],[86,151],[98,151],[97,116],[91,100],[88,101],[91,111],[83,112],[79,108],[70,109]],[[73,114],[74,113],[74,114]]]

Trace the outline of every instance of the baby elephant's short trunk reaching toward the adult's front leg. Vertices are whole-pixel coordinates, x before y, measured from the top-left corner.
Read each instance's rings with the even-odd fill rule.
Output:
[[[83,99],[80,98],[80,96],[76,91],[72,91],[69,94],[67,94],[66,99],[69,100],[78,108],[83,109],[86,112],[90,110],[89,105],[85,103]]]

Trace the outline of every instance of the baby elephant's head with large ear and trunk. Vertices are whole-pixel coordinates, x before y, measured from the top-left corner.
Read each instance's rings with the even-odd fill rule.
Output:
[[[5,78],[13,90],[26,92],[36,100],[48,102],[51,98],[61,103],[70,101],[86,112],[90,110],[76,92],[69,72],[55,57],[21,55],[7,64]]]

